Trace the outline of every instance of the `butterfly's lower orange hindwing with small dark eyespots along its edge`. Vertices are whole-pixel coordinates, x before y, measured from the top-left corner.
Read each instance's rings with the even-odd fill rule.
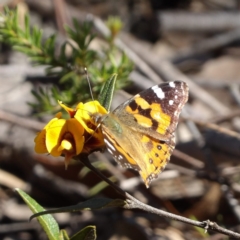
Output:
[[[105,126],[103,134],[106,147],[116,162],[123,168],[139,171],[147,187],[163,171],[175,147],[174,137],[165,142],[124,126],[121,134]]]

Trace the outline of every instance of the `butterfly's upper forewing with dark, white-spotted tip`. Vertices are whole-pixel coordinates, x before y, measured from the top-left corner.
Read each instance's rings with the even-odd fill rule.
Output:
[[[167,141],[188,100],[188,86],[175,81],[153,86],[113,111],[119,121],[138,132]]]

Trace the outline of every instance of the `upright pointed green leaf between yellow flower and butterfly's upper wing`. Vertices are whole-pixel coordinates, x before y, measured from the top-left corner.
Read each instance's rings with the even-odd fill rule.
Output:
[[[113,74],[109,80],[107,80],[99,94],[98,101],[102,106],[106,108],[107,111],[110,110],[113,93],[115,90],[117,80],[117,74]]]

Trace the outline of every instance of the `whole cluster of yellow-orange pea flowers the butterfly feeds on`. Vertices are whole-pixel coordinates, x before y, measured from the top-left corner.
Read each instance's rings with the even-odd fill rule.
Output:
[[[35,151],[54,157],[65,155],[67,167],[70,159],[80,153],[91,153],[104,147],[103,135],[93,115],[104,115],[106,109],[98,101],[79,103],[72,109],[59,102],[70,119],[61,119],[58,113],[35,138]]]

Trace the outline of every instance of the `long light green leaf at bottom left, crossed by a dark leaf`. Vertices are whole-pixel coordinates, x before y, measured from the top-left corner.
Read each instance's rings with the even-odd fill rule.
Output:
[[[16,188],[15,190],[21,196],[23,201],[28,205],[28,207],[31,209],[33,213],[40,213],[45,210],[41,205],[39,205],[34,199],[32,199],[24,191],[18,188]],[[52,215],[47,214],[44,216],[39,216],[37,217],[37,219],[50,240],[61,240],[59,235],[58,224],[55,221],[55,219],[52,217]]]

